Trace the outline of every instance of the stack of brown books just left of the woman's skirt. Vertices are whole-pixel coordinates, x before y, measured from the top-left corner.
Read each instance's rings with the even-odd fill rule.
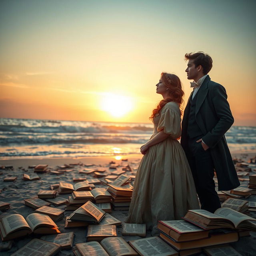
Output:
[[[112,196],[111,204],[113,205],[114,210],[129,210],[132,197],[131,188],[109,184],[108,192],[110,192]]]

